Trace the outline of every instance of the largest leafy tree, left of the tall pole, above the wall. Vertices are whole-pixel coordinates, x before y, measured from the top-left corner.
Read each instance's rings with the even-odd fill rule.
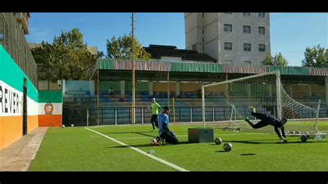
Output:
[[[49,72],[54,81],[89,80],[98,58],[98,55],[91,55],[78,28],[62,30],[62,34],[53,39],[53,44],[42,42],[32,53],[39,66],[39,78],[48,79]]]

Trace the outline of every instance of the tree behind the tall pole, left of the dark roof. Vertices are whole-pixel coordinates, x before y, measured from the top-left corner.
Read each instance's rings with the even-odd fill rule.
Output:
[[[107,58],[109,59],[132,59],[132,36],[112,37],[107,39]],[[136,60],[149,60],[152,55],[143,49],[143,46],[134,38],[134,50]]]

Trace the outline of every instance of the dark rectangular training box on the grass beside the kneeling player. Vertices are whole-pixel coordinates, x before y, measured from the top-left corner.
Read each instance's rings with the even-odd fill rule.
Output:
[[[213,142],[213,129],[210,128],[190,128],[188,129],[189,143]]]

